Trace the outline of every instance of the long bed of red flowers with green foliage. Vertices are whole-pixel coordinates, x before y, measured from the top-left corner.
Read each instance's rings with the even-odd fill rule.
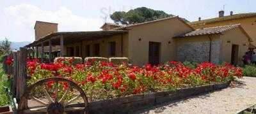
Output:
[[[34,59],[28,61],[27,66],[31,75],[29,84],[60,76],[81,85],[90,101],[227,82],[242,77],[241,68],[230,64],[214,65],[211,62],[197,64],[193,69],[175,61],[159,66],[147,64],[140,68],[94,61],[72,66],[72,60],[41,64]],[[67,84],[62,85],[63,89],[67,89]],[[47,83],[47,87],[51,88],[52,83]]]

